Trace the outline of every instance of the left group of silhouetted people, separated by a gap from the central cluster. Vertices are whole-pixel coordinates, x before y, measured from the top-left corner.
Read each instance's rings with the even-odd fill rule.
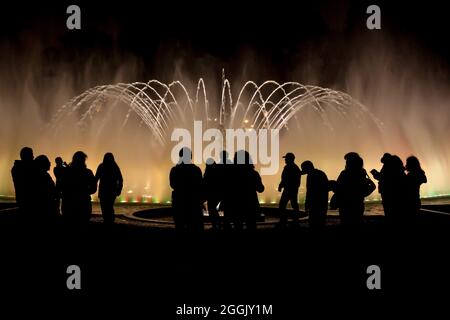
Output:
[[[114,201],[123,186],[122,173],[112,153],[106,153],[96,174],[86,166],[87,155],[77,151],[67,164],[55,159],[53,174],[46,155],[34,158],[33,150],[24,147],[20,160],[11,169],[16,202],[20,214],[29,222],[54,224],[61,219],[71,225],[87,224],[92,214],[91,195],[97,192],[103,220],[114,222]]]

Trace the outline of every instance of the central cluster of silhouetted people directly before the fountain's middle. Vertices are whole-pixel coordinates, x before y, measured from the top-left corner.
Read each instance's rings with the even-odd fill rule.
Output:
[[[170,171],[172,207],[178,230],[203,229],[204,202],[215,230],[256,229],[260,214],[257,193],[264,191],[264,185],[247,151],[236,152],[233,160],[226,151],[221,153],[218,163],[208,159],[203,176],[201,169],[192,163],[189,148],[182,148],[179,156],[178,164]],[[219,211],[223,211],[223,219]]]

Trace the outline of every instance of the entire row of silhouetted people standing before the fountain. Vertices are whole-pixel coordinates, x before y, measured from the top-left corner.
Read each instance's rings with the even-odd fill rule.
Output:
[[[326,225],[329,208],[339,211],[344,226],[355,227],[362,223],[365,198],[376,189],[376,184],[364,169],[359,154],[350,152],[344,156],[345,168],[337,180],[329,180],[309,160],[299,167],[291,152],[283,158],[285,166],[278,186],[281,192],[278,228],[299,224],[298,193],[303,175],[307,177],[305,213],[311,228]],[[92,215],[91,195],[98,189],[103,221],[113,224],[114,202],[123,187],[120,168],[113,154],[108,152],[94,175],[87,168],[86,159],[82,151],[75,152],[69,164],[57,157],[53,168],[56,181],[53,181],[48,157],[34,158],[31,148],[22,148],[20,160],[15,161],[11,170],[20,213],[33,222],[52,223],[62,219],[72,225],[87,224]],[[421,207],[420,186],[427,182],[419,160],[411,156],[404,165],[398,156],[385,153],[381,163],[380,171],[372,169],[370,173],[378,181],[386,221],[395,224],[413,220]],[[191,150],[182,148],[169,180],[178,231],[203,230],[204,211],[208,212],[214,230],[256,229],[261,218],[258,193],[264,191],[264,185],[247,151],[237,151],[233,159],[222,151],[218,163],[214,159],[206,161],[202,174],[192,163]],[[333,195],[329,200],[330,192]],[[287,210],[289,203],[292,210]]]

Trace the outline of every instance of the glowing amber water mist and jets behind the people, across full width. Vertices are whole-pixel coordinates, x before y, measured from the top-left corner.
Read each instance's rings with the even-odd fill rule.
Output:
[[[414,154],[429,180],[422,195],[450,193],[448,85],[436,86],[434,75],[395,73],[386,66],[400,68],[398,60],[386,62],[380,54],[348,67],[344,88],[352,96],[298,82],[231,83],[225,77],[219,88],[209,78],[126,82],[135,74],[126,68],[117,74],[105,68],[109,76],[101,81],[92,78],[92,66],[81,71],[92,78],[86,83],[116,84],[82,92],[62,72],[64,67],[55,67],[57,76],[46,79],[35,76],[41,61],[30,58],[20,68],[5,59],[0,64],[0,194],[14,194],[10,168],[20,148],[28,145],[36,155],[62,156],[68,162],[75,151],[84,150],[92,169],[105,152],[113,152],[125,176],[122,199],[169,200],[170,134],[177,127],[192,129],[194,120],[201,120],[205,129],[280,129],[280,153],[294,152],[297,162],[313,161],[330,179],[343,169],[349,151],[359,152],[367,169],[379,169],[384,152],[403,159]],[[277,201],[279,174],[263,177],[263,201]]]

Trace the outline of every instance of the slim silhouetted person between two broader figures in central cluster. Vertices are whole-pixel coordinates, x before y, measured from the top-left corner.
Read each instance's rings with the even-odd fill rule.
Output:
[[[220,229],[220,217],[217,206],[220,202],[221,181],[219,167],[214,159],[206,160],[205,173],[203,174],[206,201],[208,203],[208,214],[214,230]]]

